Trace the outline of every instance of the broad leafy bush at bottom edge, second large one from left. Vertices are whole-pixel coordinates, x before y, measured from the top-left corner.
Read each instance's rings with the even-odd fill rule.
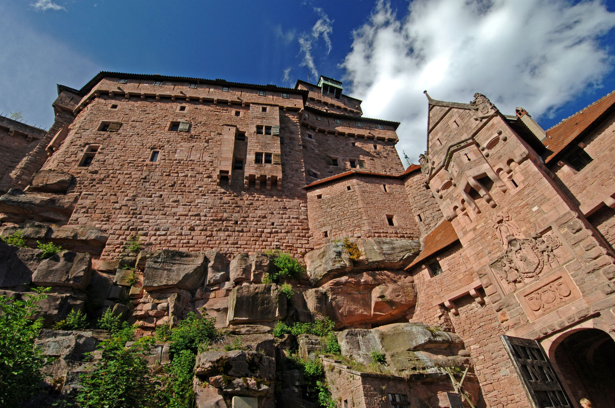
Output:
[[[151,339],[141,337],[131,347],[125,347],[134,331],[135,328],[122,329],[99,345],[101,360],[92,372],[81,376],[82,388],[76,396],[81,408],[156,406],[156,385],[143,358]]]

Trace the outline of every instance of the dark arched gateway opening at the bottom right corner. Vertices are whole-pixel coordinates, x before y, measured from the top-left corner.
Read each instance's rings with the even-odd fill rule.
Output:
[[[609,408],[615,401],[615,341],[595,328],[566,332],[549,350],[563,385],[578,406],[589,398],[595,408]],[[576,402],[576,404],[575,404]]]

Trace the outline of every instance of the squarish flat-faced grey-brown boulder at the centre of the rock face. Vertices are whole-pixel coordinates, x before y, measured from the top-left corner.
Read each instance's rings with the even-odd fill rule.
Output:
[[[287,298],[279,296],[278,289],[275,283],[244,284],[232,289],[227,323],[247,324],[284,319],[287,315]]]

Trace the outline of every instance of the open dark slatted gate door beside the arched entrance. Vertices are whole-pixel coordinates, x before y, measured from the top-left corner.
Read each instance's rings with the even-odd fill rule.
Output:
[[[538,341],[509,335],[500,338],[534,408],[572,407]]]

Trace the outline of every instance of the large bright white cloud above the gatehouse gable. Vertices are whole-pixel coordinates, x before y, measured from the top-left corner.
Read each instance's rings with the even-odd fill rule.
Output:
[[[365,116],[402,122],[398,151],[425,150],[427,100],[488,96],[549,115],[613,67],[597,37],[615,27],[599,0],[415,0],[398,18],[379,2],[354,32],[343,68]],[[404,162],[405,163],[405,162]]]

